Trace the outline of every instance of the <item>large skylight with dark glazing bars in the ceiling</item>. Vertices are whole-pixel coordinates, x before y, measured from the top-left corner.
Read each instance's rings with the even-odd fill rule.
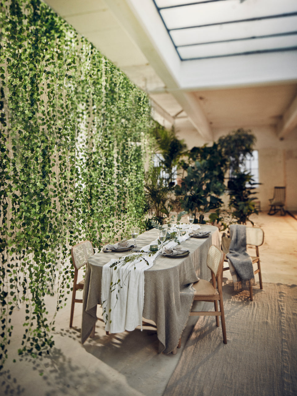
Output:
[[[296,0],[152,0],[181,61],[297,50]]]

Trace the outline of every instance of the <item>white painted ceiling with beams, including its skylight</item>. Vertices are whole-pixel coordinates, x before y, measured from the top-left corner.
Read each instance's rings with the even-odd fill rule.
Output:
[[[147,91],[154,117],[179,135],[211,141],[215,131],[258,126],[274,126],[281,139],[296,133],[296,0],[155,1],[46,3]]]

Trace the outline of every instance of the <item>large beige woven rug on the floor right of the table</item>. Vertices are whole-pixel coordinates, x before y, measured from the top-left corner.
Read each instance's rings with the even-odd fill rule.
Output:
[[[253,292],[223,286],[227,345],[221,319],[200,316],[163,396],[297,395],[297,286]]]

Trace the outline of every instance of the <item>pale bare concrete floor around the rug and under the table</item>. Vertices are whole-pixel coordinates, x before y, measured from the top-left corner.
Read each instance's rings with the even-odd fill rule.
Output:
[[[263,282],[297,284],[297,220],[290,215],[268,216],[266,212],[253,220],[265,232],[265,242],[260,247]],[[224,276],[231,279],[229,271]],[[25,314],[22,309],[14,314],[9,356],[0,373],[1,395],[162,395],[197,317],[189,318],[177,354],[163,355],[158,354],[154,327],[106,335],[103,322],[98,321],[95,338],[81,345],[81,305],[75,309],[77,329],[70,329],[69,303],[57,314],[55,346],[48,357],[17,355]],[[54,306],[55,300],[48,297],[49,309],[54,311]]]

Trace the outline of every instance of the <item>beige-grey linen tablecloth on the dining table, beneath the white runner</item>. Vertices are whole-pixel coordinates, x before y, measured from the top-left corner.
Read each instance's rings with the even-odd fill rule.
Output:
[[[209,235],[204,238],[190,237],[181,242],[180,246],[189,251],[186,257],[159,254],[152,267],[144,271],[143,320],[152,320],[156,324],[159,353],[168,354],[179,343],[194,299],[192,284],[200,278],[211,278],[206,261],[209,247],[220,246],[219,229],[212,225],[201,225],[201,230],[209,231]],[[157,238],[156,228],[143,232],[137,238],[137,249]],[[111,257],[120,256],[123,253],[100,251],[88,258],[83,292],[82,344],[97,321],[97,305],[102,304],[102,268]]]

